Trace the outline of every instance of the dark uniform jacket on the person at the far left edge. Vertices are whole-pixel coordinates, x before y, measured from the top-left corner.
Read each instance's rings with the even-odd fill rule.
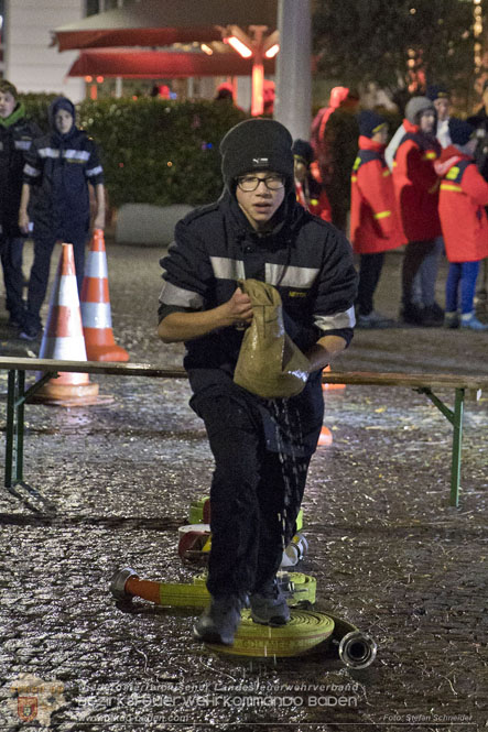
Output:
[[[24,155],[42,134],[35,122],[25,119],[23,105],[0,121],[0,237],[20,237],[19,207]]]

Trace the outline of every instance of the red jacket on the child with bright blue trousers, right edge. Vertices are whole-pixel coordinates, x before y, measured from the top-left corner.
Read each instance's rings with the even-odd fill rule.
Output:
[[[488,256],[488,183],[473,157],[449,145],[436,170],[442,175],[438,212],[449,262],[477,262]]]

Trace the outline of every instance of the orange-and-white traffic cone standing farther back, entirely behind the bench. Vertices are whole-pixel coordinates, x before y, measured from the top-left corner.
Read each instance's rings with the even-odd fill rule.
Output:
[[[89,361],[129,361],[112,332],[104,231],[95,229],[82,285],[82,319]]]

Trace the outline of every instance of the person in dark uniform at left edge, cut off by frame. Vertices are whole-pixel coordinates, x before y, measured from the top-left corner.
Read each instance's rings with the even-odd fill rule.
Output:
[[[41,134],[37,124],[26,119],[13,84],[0,80],[0,256],[9,325],[15,328],[24,321],[23,238],[19,229],[24,155]]]

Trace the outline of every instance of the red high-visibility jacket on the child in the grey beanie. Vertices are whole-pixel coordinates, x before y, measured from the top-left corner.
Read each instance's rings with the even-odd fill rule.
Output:
[[[408,241],[427,241],[441,234],[438,178],[434,161],[441,154],[435,138],[403,120],[406,134],[393,161],[393,184]]]

